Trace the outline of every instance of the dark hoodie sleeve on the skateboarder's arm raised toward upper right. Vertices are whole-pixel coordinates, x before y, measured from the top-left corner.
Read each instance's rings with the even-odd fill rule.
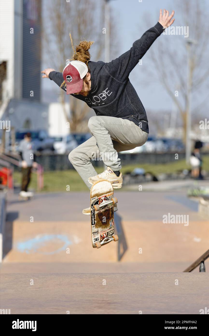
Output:
[[[147,30],[139,40],[135,41],[130,50],[106,63],[105,67],[109,75],[124,82],[163,30],[163,26],[158,22],[154,27]]]

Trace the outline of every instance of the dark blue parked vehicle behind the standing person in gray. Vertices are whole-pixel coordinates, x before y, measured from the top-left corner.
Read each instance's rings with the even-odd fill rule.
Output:
[[[54,150],[53,139],[49,137],[45,130],[20,130],[15,133],[15,147],[18,151],[19,142],[24,139],[26,133],[31,133],[32,145],[34,151]]]

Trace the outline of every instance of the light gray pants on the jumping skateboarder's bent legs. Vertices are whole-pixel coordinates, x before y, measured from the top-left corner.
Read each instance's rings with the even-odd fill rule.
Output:
[[[88,178],[97,175],[90,160],[102,161],[113,171],[121,169],[117,152],[142,146],[148,138],[133,121],[122,118],[95,116],[89,119],[92,137],[70,152],[68,158],[89,189]]]

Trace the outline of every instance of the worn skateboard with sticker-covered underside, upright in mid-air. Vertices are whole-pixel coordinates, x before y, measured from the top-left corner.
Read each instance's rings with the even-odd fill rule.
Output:
[[[114,235],[114,204],[117,198],[113,197],[112,184],[107,180],[95,182],[90,192],[91,232],[93,247],[117,241]]]

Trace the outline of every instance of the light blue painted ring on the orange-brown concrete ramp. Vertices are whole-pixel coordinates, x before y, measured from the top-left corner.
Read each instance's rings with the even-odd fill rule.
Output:
[[[42,248],[44,245],[46,245],[48,242],[52,241],[52,240],[60,240],[64,243],[64,245],[62,247],[60,247],[59,249],[57,249],[56,251],[52,251],[52,252],[39,252],[38,250],[40,248]],[[59,253],[63,250],[66,250],[66,248],[71,245],[72,242],[68,240],[68,237],[65,235],[42,235],[42,236],[38,236],[29,240],[26,240],[24,242],[19,242],[17,243],[17,250],[19,252],[22,253],[41,253],[41,254],[55,254],[55,253]]]

